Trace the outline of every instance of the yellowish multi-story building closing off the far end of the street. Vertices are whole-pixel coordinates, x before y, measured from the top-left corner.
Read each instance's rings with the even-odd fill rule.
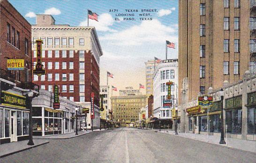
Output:
[[[146,95],[112,96],[113,120],[117,125],[128,127],[139,120],[139,112],[147,104]]]

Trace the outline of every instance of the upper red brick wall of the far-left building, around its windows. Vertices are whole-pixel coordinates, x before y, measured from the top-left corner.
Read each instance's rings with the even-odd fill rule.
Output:
[[[12,35],[12,27],[20,32],[20,49],[7,42],[7,23],[10,24]],[[25,38],[29,40],[28,55],[25,55]],[[7,59],[24,59],[24,63],[28,63],[30,69],[29,81],[31,81],[31,25],[18,11],[7,1],[0,2],[0,67],[7,69]],[[12,41],[12,37],[11,37]],[[8,58],[7,58],[8,57]],[[15,71],[17,74],[18,71]],[[20,81],[25,81],[25,71],[20,70]],[[17,79],[17,78],[16,78]],[[16,82],[19,84],[19,82]]]

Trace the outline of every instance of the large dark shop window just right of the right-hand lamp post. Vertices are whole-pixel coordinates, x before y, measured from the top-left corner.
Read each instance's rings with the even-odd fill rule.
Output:
[[[242,110],[226,111],[227,133],[241,133]]]

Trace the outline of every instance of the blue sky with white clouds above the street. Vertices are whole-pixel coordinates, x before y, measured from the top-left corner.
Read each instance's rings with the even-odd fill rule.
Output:
[[[178,0],[9,2],[30,24],[36,24],[36,14],[51,14],[55,24],[87,26],[87,10],[97,13],[98,22],[89,19],[89,26],[96,28],[103,51],[100,57],[100,84],[106,85],[106,71],[109,71],[114,78],[109,78],[108,84],[118,91],[128,86],[139,89],[139,83],[145,85],[145,62],[154,57],[166,58],[166,40],[175,43],[175,49],[168,48],[167,58],[178,58]],[[113,96],[118,95],[118,91],[113,91]],[[141,91],[145,93],[145,89]]]

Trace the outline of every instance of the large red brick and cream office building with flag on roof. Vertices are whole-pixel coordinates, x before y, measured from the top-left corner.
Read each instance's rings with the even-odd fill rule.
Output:
[[[93,126],[99,127],[99,60],[103,53],[95,28],[57,25],[52,15],[37,15],[37,24],[32,25],[32,41],[37,39],[44,43],[42,60],[46,74],[34,75],[33,81],[49,91],[58,85],[61,96],[85,108],[91,108],[90,95],[94,92]],[[32,61],[36,62],[36,46],[32,50]],[[88,113],[88,128],[91,123]]]

